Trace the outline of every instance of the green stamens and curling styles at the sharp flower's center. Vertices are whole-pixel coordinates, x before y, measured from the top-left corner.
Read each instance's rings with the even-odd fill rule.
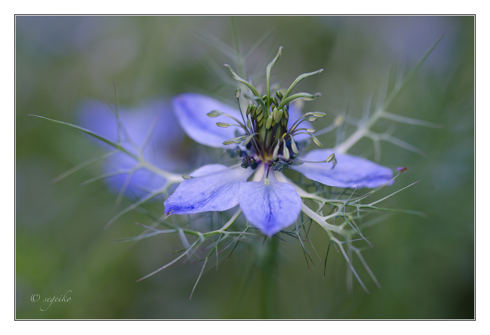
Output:
[[[256,102],[248,104],[244,113],[240,107],[241,89],[237,89],[235,92],[235,97],[238,101],[238,107],[240,109],[242,120],[220,111],[212,111],[208,113],[208,116],[212,118],[223,115],[236,122],[236,124],[217,122],[216,124],[219,127],[226,128],[230,126],[237,126],[245,131],[245,134],[243,134],[243,132],[239,132],[236,135],[236,138],[223,142],[225,145],[239,144],[235,150],[228,150],[228,152],[232,157],[239,157],[243,168],[257,168],[259,164],[265,163],[268,165],[268,168],[272,167],[275,170],[282,171],[294,163],[301,164],[303,161],[295,159],[296,155],[299,153],[299,150],[298,144],[296,144],[294,141],[294,135],[310,135],[315,144],[317,144],[319,147],[322,146],[318,139],[313,136],[313,134],[316,133],[315,129],[300,128],[299,125],[306,120],[315,121],[318,118],[324,117],[325,114],[320,112],[306,113],[298,120],[294,120],[292,123],[289,120],[289,104],[295,99],[303,98],[314,100],[320,96],[319,93],[313,95],[309,93],[297,93],[291,95],[291,92],[296,84],[302,79],[319,74],[323,71],[323,69],[300,75],[284,93],[276,91],[275,96],[271,96],[270,70],[281,56],[281,50],[282,47],[279,48],[275,58],[267,66],[266,94],[263,96],[261,96],[257,89],[249,82],[239,77],[229,65],[224,64],[224,66],[230,70],[233,77],[237,81],[240,81],[242,84],[247,86],[252,92],[252,96],[245,95],[245,97],[252,100],[252,102]],[[291,126],[288,128],[289,124],[291,124]],[[299,146],[301,147],[302,145]],[[332,160],[331,157],[329,158]]]

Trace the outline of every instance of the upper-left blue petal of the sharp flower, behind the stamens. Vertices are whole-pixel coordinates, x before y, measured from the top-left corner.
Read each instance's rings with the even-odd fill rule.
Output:
[[[197,143],[215,148],[225,148],[229,146],[224,145],[223,142],[235,138],[236,130],[240,134],[244,133],[243,129],[239,127],[221,128],[216,125],[216,122],[236,124],[235,120],[222,115],[216,118],[207,116],[209,112],[218,110],[242,120],[242,116],[237,109],[212,97],[197,93],[184,93],[175,96],[172,99],[172,105],[180,125],[186,134]]]

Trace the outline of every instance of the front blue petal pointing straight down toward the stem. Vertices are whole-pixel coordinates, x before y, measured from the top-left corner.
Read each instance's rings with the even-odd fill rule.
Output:
[[[264,234],[272,236],[297,219],[301,211],[301,198],[294,187],[280,183],[269,173],[269,185],[248,182],[238,193],[245,218]]]

